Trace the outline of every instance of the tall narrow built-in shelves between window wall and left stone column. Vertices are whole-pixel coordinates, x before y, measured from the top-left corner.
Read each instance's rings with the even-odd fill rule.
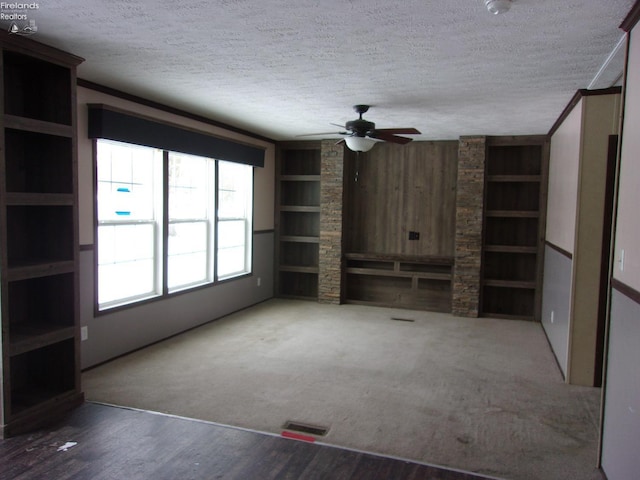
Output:
[[[280,144],[277,171],[277,293],[317,299],[320,143]]]

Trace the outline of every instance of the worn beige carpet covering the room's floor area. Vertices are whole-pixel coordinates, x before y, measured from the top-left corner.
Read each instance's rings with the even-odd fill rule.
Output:
[[[393,320],[400,318],[410,321]],[[83,375],[89,400],[513,480],[595,480],[600,390],[539,324],[274,299]]]

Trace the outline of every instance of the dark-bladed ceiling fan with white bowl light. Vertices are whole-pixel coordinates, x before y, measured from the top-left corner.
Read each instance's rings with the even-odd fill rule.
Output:
[[[397,134],[420,134],[420,131],[415,128],[376,128],[375,123],[362,118],[362,114],[369,110],[369,105],[354,105],[353,109],[357,114],[359,114],[358,119],[351,120],[345,125],[338,125],[337,123],[331,124],[344,129],[344,131],[316,133],[311,135],[345,135],[345,138],[340,140],[340,142],[344,141],[350,150],[353,150],[354,152],[367,152],[376,144],[375,140],[404,145],[409,143],[412,139],[408,137],[400,137]]]

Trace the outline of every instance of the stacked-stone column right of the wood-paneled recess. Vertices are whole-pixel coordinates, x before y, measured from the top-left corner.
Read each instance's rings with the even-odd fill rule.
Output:
[[[479,311],[486,150],[486,137],[460,137],[451,311],[461,317]]]

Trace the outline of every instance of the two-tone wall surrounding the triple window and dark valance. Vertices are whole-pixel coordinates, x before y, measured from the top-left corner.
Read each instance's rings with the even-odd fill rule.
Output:
[[[254,170],[253,275],[179,293],[120,311],[94,313],[94,178],[87,104],[103,103],[146,117],[265,148],[265,166]],[[196,120],[166,113],[87,88],[78,88],[80,205],[80,324],[82,368],[105,362],[273,296],[275,145]],[[260,285],[258,286],[258,278]]]

